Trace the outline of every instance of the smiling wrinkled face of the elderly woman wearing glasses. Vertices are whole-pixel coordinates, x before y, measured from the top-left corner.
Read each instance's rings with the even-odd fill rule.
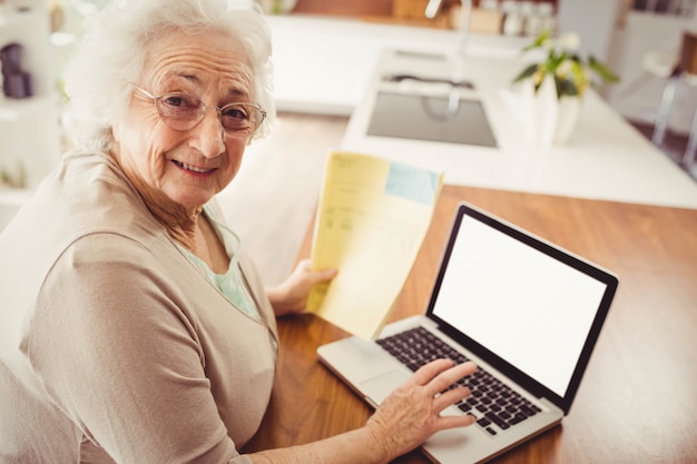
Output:
[[[207,107],[254,102],[242,47],[213,32],[163,37],[146,57],[143,81],[134,83],[155,97],[189,93]],[[134,89],[125,118],[114,126],[114,155],[146,201],[165,210],[192,210],[233,180],[252,134],[224,131],[214,108],[194,128],[175,130],[153,99]]]

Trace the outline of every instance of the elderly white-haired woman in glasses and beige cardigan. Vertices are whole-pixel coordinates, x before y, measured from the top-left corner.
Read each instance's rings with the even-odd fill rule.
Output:
[[[362,428],[239,455],[267,406],[275,317],[334,270],[265,290],[214,196],[268,127],[269,32],[226,0],[105,9],[68,75],[77,149],[0,236],[0,455],[12,463],[379,463],[471,417],[434,362]]]

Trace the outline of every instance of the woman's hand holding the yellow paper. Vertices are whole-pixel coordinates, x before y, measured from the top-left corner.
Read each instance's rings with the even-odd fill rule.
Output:
[[[287,279],[266,290],[276,316],[304,310],[313,285],[332,280],[336,273],[336,269],[312,270],[310,259],[300,261]]]

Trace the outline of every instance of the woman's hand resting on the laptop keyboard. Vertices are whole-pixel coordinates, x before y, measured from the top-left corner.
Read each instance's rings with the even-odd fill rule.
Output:
[[[472,425],[471,415],[441,416],[448,406],[470,395],[468,387],[446,388],[477,371],[472,362],[453,366],[449,359],[426,364],[397,387],[367,421],[387,461],[420,446],[435,432]]]

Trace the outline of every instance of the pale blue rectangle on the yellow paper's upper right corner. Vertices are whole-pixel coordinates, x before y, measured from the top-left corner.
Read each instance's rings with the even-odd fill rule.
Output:
[[[385,194],[432,205],[438,191],[439,178],[436,172],[430,170],[391,162]]]

